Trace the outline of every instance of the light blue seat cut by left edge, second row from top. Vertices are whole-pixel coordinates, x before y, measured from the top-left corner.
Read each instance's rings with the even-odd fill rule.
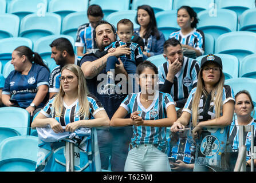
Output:
[[[19,33],[19,17],[5,13],[0,14],[0,39],[17,37]]]

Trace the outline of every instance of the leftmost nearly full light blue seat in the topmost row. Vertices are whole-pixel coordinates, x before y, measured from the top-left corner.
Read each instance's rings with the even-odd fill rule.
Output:
[[[12,0],[7,12],[17,15],[21,21],[23,17],[31,13],[44,16],[47,6],[48,0]]]

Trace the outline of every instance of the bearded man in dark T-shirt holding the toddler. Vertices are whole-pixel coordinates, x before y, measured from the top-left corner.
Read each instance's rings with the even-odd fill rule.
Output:
[[[109,57],[119,57],[122,54],[130,54],[131,51],[128,47],[125,47],[126,45],[117,47],[113,53],[104,51],[106,46],[116,41],[115,28],[108,22],[99,22],[95,27],[95,35],[95,41],[99,50],[97,50],[96,53],[84,55],[81,59],[80,67],[84,72],[89,92],[99,99],[108,117],[111,119],[121,102],[127,96],[127,92],[117,93],[115,91],[115,93],[111,94],[102,90],[104,85],[101,83],[106,83],[107,81],[104,82],[103,78],[105,76],[105,79],[107,79],[105,66]],[[120,59],[119,62],[119,65],[116,64],[115,74],[125,74],[127,76],[126,78],[128,78],[127,71],[125,71],[124,65]],[[126,78],[125,83],[127,82]],[[118,86],[118,82],[119,81],[115,81],[116,86]],[[109,158],[111,157],[111,170],[124,171],[124,164],[128,154],[128,144],[132,137],[132,126],[97,129],[97,136],[101,168],[108,169]]]

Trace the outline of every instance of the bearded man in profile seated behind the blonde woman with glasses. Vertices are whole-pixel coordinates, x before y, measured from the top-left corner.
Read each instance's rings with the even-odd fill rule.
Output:
[[[68,63],[79,65],[81,56],[74,54],[72,43],[66,38],[55,39],[50,43],[50,47],[52,48],[52,55],[50,57],[59,65],[53,69],[49,78],[49,97],[52,98],[60,90],[59,77],[62,67]]]

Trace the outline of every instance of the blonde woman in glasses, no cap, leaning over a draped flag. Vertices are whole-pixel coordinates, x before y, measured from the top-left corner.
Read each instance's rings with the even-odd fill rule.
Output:
[[[60,82],[60,92],[49,100],[31,124],[32,128],[37,128],[42,141],[38,154],[44,154],[38,156],[36,171],[65,171],[67,138],[74,142],[74,154],[79,155],[74,156],[74,170],[95,171],[93,140],[97,138],[92,127],[108,126],[109,118],[97,98],[88,93],[80,67],[65,65]]]

